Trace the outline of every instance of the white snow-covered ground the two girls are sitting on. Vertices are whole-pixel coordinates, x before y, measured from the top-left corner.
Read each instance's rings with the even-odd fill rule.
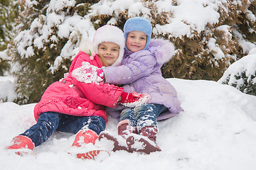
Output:
[[[168,80],[178,91],[185,111],[159,122],[157,142],[162,152],[112,152],[102,162],[76,159],[67,154],[75,135],[55,132],[34,149],[35,155],[19,157],[6,152],[5,147],[35,123],[35,104],[6,102],[0,103],[0,169],[254,170],[256,96],[215,81]],[[117,133],[116,126],[117,120],[110,118],[106,130]]]

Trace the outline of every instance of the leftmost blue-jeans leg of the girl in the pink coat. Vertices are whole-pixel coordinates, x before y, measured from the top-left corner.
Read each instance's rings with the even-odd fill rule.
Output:
[[[20,135],[29,137],[35,146],[41,145],[49,139],[50,135],[53,135],[53,132],[58,128],[59,121],[60,113],[41,113],[36,125],[31,126]]]

